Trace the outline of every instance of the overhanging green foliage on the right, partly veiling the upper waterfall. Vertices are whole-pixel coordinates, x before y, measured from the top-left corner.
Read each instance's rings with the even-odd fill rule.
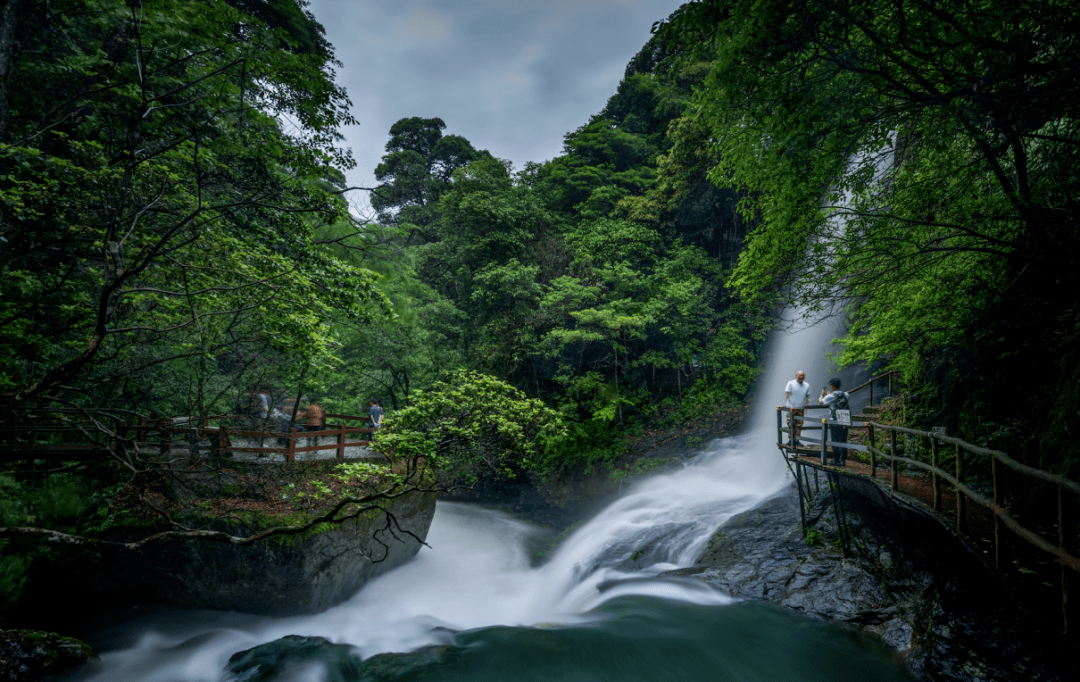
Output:
[[[1080,366],[1078,27],[1067,3],[707,0],[659,31],[711,64],[686,132],[759,220],[730,284],[849,302],[842,362],[901,370],[975,429],[1026,423],[1074,472],[1055,415]],[[1048,357],[1061,371],[1031,377]]]

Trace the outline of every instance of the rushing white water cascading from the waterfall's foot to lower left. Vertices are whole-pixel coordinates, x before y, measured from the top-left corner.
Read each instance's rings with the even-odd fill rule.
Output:
[[[617,596],[728,603],[704,584],[651,578],[692,563],[717,526],[783,487],[788,473],[775,447],[774,407],[797,370],[807,372],[812,386],[824,384],[837,332],[822,323],[778,333],[746,433],[714,442],[681,470],[639,483],[540,567],[529,566],[525,549],[538,532],[530,524],[440,503],[431,547],[348,602],[292,618],[175,611],[149,616],[105,636],[102,668],[90,679],[217,682],[230,655],[286,634],[349,643],[367,657],[447,642],[450,630],[571,623]]]

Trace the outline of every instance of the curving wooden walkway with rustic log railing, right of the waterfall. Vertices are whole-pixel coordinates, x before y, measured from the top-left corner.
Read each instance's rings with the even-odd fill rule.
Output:
[[[787,410],[778,407],[777,445],[788,467],[793,469],[799,486],[800,499],[810,502],[811,472],[824,473],[826,480],[833,477],[851,477],[870,481],[882,494],[901,497],[908,506],[921,513],[936,517],[950,529],[973,551],[983,559],[990,570],[996,571],[1008,590],[1028,611],[1048,623],[1058,623],[1061,631],[1071,640],[1077,640],[1076,605],[1070,604],[1069,586],[1076,581],[1074,572],[1080,572],[1077,538],[1070,532],[1076,527],[1071,516],[1077,506],[1077,491],[1080,485],[1012,460],[1004,453],[990,451],[959,439],[941,433],[930,433],[880,424],[876,414],[854,415],[850,418],[849,436],[855,436],[848,443],[847,462],[843,467],[829,462],[833,450],[840,443],[825,440],[822,443],[823,427],[837,422],[822,419],[816,415],[802,417],[805,426],[800,441],[804,446],[787,444],[791,429],[784,426],[781,415]],[[799,419],[799,417],[796,417]],[[902,456],[897,449],[897,434],[912,445],[916,439],[929,441],[931,463],[926,464]],[[875,444],[877,438],[888,436],[889,451]],[[955,471],[942,468],[946,458],[943,452],[946,443],[953,444],[953,466]],[[982,459],[982,462],[977,462]],[[988,462],[986,462],[988,459]],[[971,481],[970,469],[980,466],[987,469],[993,481],[993,491],[976,490],[978,484]],[[1024,525],[1009,513],[1002,504],[1002,480],[1005,471],[1034,478],[1056,489],[1057,523],[1038,523],[1025,519]],[[814,473],[816,481],[819,473]],[[842,496],[841,496],[842,497]],[[972,504],[973,503],[973,504]],[[835,503],[834,503],[835,504]],[[804,513],[806,508],[800,506]],[[847,529],[842,512],[842,500],[836,508],[837,523],[841,526],[841,541],[849,550]]]

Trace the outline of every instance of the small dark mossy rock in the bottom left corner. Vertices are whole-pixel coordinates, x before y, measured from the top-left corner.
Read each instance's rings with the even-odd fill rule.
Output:
[[[0,630],[0,680],[53,680],[97,659],[89,644],[38,630]]]

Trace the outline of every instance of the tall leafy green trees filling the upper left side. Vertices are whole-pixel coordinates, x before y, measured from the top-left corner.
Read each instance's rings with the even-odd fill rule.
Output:
[[[227,412],[241,380],[334,365],[335,323],[389,315],[315,238],[345,216],[324,178],[352,119],[301,5],[39,11],[9,17],[28,42],[0,103],[6,400]]]

